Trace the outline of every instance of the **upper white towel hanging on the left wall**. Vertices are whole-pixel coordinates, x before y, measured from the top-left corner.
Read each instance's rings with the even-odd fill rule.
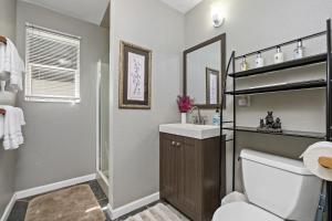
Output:
[[[19,55],[15,45],[7,39],[7,45],[0,44],[0,73],[10,74],[10,87],[22,90],[22,74],[25,71],[24,62]]]

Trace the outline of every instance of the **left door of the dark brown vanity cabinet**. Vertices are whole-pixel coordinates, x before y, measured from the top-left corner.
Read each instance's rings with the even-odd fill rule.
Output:
[[[178,206],[179,149],[175,138],[160,134],[160,197]]]

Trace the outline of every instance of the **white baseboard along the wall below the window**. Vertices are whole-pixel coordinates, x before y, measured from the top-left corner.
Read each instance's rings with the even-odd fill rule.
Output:
[[[96,173],[92,173],[92,175],[87,175],[87,176],[83,176],[83,177],[76,177],[76,178],[72,178],[69,180],[54,182],[51,185],[45,185],[45,186],[41,186],[41,187],[35,187],[35,188],[31,188],[31,189],[27,189],[27,190],[17,191],[15,199],[19,200],[19,199],[23,199],[27,197],[50,192],[50,191],[58,190],[61,188],[79,185],[82,182],[87,182],[87,181],[91,181],[94,179],[96,179]]]

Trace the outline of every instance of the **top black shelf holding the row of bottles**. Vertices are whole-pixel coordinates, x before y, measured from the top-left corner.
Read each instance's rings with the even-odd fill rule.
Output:
[[[287,70],[287,69],[292,69],[292,67],[298,67],[298,66],[304,66],[309,64],[317,64],[326,61],[326,53],[323,54],[318,54],[318,55],[312,55],[312,56],[307,56],[303,59],[298,59],[298,60],[292,60],[279,64],[271,64],[268,66],[262,66],[258,69],[252,69],[243,72],[237,72],[234,74],[229,74],[231,77],[246,77],[246,76],[252,76],[252,75],[258,75],[258,74],[264,74],[269,72],[276,72],[276,71],[281,71],[281,70]]]

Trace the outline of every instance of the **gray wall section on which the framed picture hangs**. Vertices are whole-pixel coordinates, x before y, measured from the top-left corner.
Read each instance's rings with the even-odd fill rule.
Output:
[[[159,191],[158,125],[179,120],[184,15],[156,0],[111,1],[111,199],[118,208]],[[124,40],[153,51],[152,109],[118,108]]]

